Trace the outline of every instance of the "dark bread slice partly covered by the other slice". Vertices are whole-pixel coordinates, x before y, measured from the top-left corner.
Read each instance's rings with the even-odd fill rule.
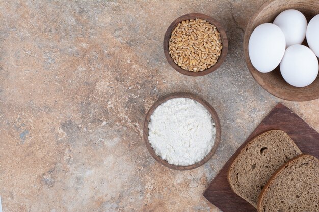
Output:
[[[257,207],[258,196],[272,174],[291,158],[302,154],[281,130],[267,131],[241,150],[228,171],[231,189]]]

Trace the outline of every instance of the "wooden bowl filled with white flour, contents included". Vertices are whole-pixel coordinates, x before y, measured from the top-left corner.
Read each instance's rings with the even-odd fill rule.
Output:
[[[199,96],[171,93],[159,98],[144,121],[143,137],[153,158],[175,170],[191,170],[206,163],[221,140],[214,108]]]

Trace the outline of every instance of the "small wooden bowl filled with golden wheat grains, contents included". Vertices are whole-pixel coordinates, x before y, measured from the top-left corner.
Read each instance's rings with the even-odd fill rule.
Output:
[[[190,34],[187,34],[187,32],[192,31],[190,29],[187,32],[185,31],[185,34],[187,35],[178,33],[177,36],[180,36],[180,38],[176,37],[176,33],[175,33],[176,27],[178,27],[179,24],[182,24],[182,23],[185,24],[185,21],[188,21],[189,23],[189,20],[196,20],[196,21],[204,20],[205,21],[204,25],[209,26],[209,24],[211,24],[213,27],[215,27],[215,28],[212,28],[212,33],[215,32],[216,34],[212,34],[211,31],[208,30],[209,34],[207,34],[206,31],[205,32],[203,31],[203,32],[199,32],[199,33],[203,33],[202,36],[195,36],[195,34],[194,36],[192,36],[191,34],[192,32],[190,32]],[[181,26],[183,27],[183,25]],[[202,27],[203,23],[198,22],[198,26]],[[177,40],[177,43],[174,43],[175,46],[172,46],[172,43],[173,43],[172,32],[175,35],[174,36],[176,38],[175,40]],[[204,36],[206,37],[217,36],[217,39],[211,40],[211,41],[216,40],[217,43],[215,41],[210,43],[206,42],[207,39],[205,42],[203,42],[203,40],[205,40],[206,38]],[[180,43],[178,42],[179,39],[181,39]],[[190,43],[191,45],[189,45]],[[176,71],[184,75],[197,77],[197,76],[204,76],[206,74],[209,74],[215,71],[216,69],[218,69],[222,65],[222,63],[224,62],[227,56],[228,40],[227,40],[226,32],[223,29],[220,22],[204,14],[191,13],[191,14],[183,15],[177,18],[168,27],[164,36],[163,47],[164,47],[164,54],[168,63]],[[218,52],[217,55],[216,55],[216,52]]]

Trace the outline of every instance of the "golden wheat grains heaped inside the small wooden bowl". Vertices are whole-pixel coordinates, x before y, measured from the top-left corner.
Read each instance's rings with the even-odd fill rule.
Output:
[[[214,66],[222,49],[222,40],[216,27],[198,18],[179,23],[169,40],[172,59],[187,71],[204,71]]]

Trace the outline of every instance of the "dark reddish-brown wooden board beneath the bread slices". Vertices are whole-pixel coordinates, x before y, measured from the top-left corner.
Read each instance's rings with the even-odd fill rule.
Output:
[[[203,193],[208,201],[223,212],[257,212],[257,209],[231,190],[227,181],[227,171],[231,162],[247,142],[268,130],[285,131],[300,148],[301,152],[319,158],[319,133],[286,106],[281,103],[277,104],[243,145],[231,156]]]

